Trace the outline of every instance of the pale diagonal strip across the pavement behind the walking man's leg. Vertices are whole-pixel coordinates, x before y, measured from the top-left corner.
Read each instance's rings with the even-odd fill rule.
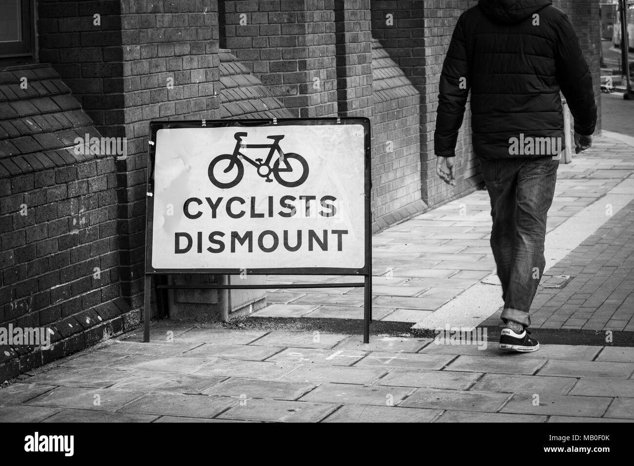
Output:
[[[606,215],[608,205],[611,205],[612,215],[614,215],[631,200],[634,200],[634,178],[626,178],[608,191],[604,197],[598,198],[547,233],[545,271],[566,257],[611,218]],[[495,282],[495,278],[491,275],[482,281]],[[449,324],[451,327],[462,327],[465,330],[473,329],[504,305],[501,294],[499,286],[482,282],[475,283],[411,328],[435,330]]]

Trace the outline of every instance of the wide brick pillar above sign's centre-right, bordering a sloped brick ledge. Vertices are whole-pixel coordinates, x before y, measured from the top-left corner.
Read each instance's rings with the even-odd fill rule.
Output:
[[[295,117],[337,115],[333,0],[224,2],[226,46]]]

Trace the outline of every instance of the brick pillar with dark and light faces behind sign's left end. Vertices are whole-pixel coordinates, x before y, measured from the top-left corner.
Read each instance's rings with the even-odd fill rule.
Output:
[[[140,307],[148,123],[219,117],[217,2],[40,0],[38,8],[41,60],[53,63],[101,134],[127,139],[112,179],[115,247],[122,295]]]

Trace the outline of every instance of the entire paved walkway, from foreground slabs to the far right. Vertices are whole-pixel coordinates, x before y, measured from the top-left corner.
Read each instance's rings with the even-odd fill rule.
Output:
[[[248,318],[156,321],[149,343],[134,330],[23,374],[0,388],[0,422],[631,422],[634,139],[604,134],[560,165],[536,353],[496,349],[503,303],[475,191],[373,236],[369,344],[361,288],[276,288]],[[433,338],[455,328],[473,331]]]

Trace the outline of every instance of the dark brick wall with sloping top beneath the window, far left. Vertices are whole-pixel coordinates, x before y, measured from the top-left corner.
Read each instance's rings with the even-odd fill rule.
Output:
[[[52,342],[0,343],[3,382],[139,314],[119,298],[115,158],[74,150],[101,136],[91,119],[46,65],[0,72],[0,109],[0,328],[49,328]]]

